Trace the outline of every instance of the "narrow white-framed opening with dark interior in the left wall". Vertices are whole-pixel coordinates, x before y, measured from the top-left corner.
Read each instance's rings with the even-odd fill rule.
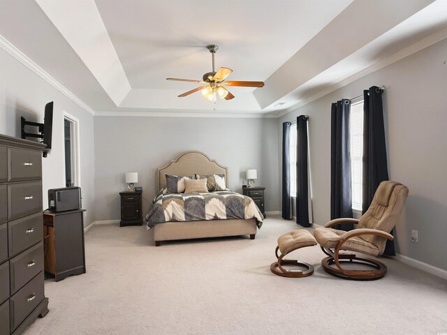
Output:
[[[64,112],[65,186],[80,186],[79,120]]]

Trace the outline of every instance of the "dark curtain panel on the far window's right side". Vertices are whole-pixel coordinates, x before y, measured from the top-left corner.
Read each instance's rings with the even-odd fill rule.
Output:
[[[307,115],[300,115],[296,119],[296,223],[303,227],[310,227],[309,193],[307,189],[307,119]]]

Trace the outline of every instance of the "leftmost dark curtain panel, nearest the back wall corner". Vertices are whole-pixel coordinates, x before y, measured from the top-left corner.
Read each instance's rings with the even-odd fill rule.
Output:
[[[282,124],[282,218],[290,220],[291,211],[291,123]]]

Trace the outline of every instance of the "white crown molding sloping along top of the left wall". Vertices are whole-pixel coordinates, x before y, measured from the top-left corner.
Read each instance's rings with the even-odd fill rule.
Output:
[[[43,68],[38,66],[34,61],[31,61],[27,55],[25,55],[23,52],[17,49],[13,44],[11,44],[6,38],[0,35],[0,47],[8,52],[11,56],[13,56],[17,61],[20,61],[24,66],[27,66],[31,71],[36,73],[39,77],[41,77],[43,80],[45,80],[48,84],[50,84],[52,87],[57,89],[61,94],[64,94],[67,98],[69,98],[71,101],[79,105],[83,110],[85,110],[87,113],[94,115],[95,111],[92,110],[87,104],[85,104],[83,101],[80,100],[77,96],[75,96],[71,91],[66,89],[64,85],[62,85],[60,82],[55,80],[51,75],[49,75]]]

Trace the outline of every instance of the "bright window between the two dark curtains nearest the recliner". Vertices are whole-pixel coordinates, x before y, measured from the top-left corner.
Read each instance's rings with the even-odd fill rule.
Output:
[[[351,103],[352,209],[362,210],[363,100]]]

